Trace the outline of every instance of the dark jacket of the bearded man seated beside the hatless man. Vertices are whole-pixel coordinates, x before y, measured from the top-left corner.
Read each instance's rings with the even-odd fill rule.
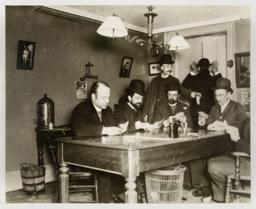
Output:
[[[141,123],[144,123],[143,114],[140,110],[134,110],[130,107],[130,105],[125,102],[122,103],[115,111],[114,115],[116,126],[122,123],[126,123],[129,121],[127,129],[129,131],[136,130],[135,128],[135,122],[140,121]]]

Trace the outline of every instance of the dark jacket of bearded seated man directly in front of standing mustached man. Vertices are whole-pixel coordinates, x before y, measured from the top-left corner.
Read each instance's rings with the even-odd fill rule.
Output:
[[[157,122],[157,121],[161,121],[163,118],[164,120],[166,120],[167,118],[169,118],[169,116],[175,116],[175,114],[179,113],[179,112],[184,112],[184,115],[186,116],[187,120],[187,127],[191,128],[193,127],[192,121],[191,121],[191,117],[190,117],[190,113],[189,113],[189,108],[186,104],[182,103],[182,102],[177,102],[176,105],[176,112],[174,115],[172,115],[169,111],[168,111],[168,102],[162,103],[159,107],[156,108],[155,111],[155,115],[153,118],[153,123]],[[180,122],[178,122],[180,125]]]

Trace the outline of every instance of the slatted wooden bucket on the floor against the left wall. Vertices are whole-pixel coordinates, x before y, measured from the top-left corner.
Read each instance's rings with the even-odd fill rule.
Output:
[[[20,166],[24,192],[35,193],[45,189],[46,167],[29,163]]]

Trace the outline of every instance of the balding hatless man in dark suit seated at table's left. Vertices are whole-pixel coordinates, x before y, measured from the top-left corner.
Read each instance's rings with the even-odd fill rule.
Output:
[[[90,90],[91,99],[79,103],[72,114],[72,130],[76,136],[119,135],[121,130],[115,127],[113,113],[108,106],[110,88],[105,82],[96,81]],[[111,179],[124,179],[115,174],[94,171],[98,174],[99,202],[109,203]]]

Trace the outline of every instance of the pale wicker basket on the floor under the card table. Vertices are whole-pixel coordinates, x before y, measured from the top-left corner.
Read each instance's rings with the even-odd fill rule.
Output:
[[[180,203],[185,170],[173,165],[145,172],[147,202]]]

